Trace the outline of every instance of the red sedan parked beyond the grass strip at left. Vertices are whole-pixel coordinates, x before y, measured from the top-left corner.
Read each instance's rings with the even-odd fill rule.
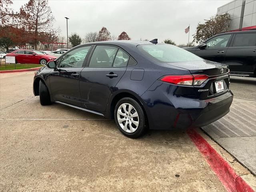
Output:
[[[36,50],[19,49],[6,54],[6,56],[15,56],[16,63],[34,63],[46,65],[47,62],[55,60],[57,57],[45,55]]]

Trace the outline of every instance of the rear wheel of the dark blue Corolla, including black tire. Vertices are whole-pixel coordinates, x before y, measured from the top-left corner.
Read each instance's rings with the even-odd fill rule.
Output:
[[[146,130],[144,111],[140,104],[132,98],[122,98],[117,102],[114,110],[114,118],[120,132],[127,137],[138,138]]]

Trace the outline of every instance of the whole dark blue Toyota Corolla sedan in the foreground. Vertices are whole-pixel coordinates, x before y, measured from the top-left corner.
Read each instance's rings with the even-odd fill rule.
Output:
[[[157,40],[76,46],[36,72],[33,91],[42,105],[57,102],[114,118],[130,138],[146,127],[210,124],[233,100],[226,65]]]

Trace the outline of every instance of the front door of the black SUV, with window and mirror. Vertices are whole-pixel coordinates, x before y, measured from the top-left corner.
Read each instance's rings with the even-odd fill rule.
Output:
[[[226,51],[230,44],[232,34],[222,34],[206,41],[206,48],[197,48],[194,54],[210,61],[225,62]]]

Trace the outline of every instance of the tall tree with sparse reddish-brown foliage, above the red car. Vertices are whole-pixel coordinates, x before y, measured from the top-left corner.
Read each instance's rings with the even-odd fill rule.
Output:
[[[48,0],[29,0],[20,8],[20,20],[23,26],[33,34],[33,45],[37,49],[40,32],[52,32],[54,16]]]

